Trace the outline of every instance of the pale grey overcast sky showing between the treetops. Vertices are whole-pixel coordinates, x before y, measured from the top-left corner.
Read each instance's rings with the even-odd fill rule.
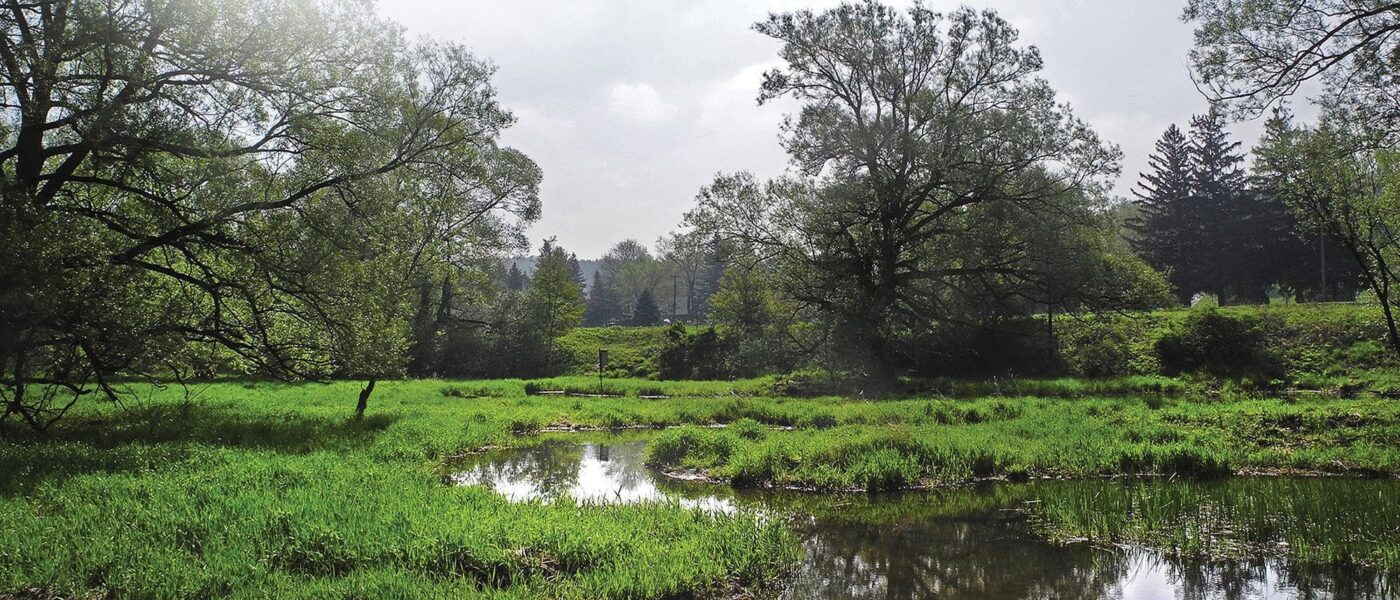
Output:
[[[518,123],[508,145],[545,171],[543,218],[531,231],[596,257],[623,238],[654,243],[676,228],[715,172],[787,168],[778,123],[757,106],[777,43],[750,25],[822,0],[381,0],[410,34],[451,39],[498,66]],[[897,4],[907,4],[899,1]],[[991,7],[1040,48],[1043,76],[1124,152],[1128,194],[1154,141],[1205,101],[1191,85],[1182,0],[930,0]],[[1257,124],[1236,127],[1247,141]]]

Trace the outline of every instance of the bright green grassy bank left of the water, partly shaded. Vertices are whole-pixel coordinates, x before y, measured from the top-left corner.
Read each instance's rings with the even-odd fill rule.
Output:
[[[0,596],[706,597],[795,561],[749,516],[444,485],[442,457],[504,442],[528,400],[442,387],[381,386],[353,421],[354,385],[216,385],[0,442]]]

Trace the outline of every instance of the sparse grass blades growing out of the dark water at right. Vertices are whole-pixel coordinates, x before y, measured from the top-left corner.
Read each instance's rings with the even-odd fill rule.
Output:
[[[1400,569],[1392,481],[1249,478],[1205,484],[1063,483],[1037,494],[1032,523],[1056,540],[1137,544],[1173,557],[1288,557],[1308,565]]]

